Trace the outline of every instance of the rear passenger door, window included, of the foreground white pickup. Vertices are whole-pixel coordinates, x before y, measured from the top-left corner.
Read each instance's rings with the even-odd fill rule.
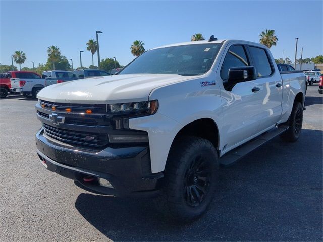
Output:
[[[281,75],[275,71],[274,63],[265,48],[248,46],[253,65],[257,71],[255,82],[260,88],[260,124],[258,132],[274,126],[282,114],[283,83]]]

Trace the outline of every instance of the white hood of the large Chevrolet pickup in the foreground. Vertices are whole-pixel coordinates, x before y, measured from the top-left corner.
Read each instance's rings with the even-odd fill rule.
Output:
[[[119,103],[147,101],[160,86],[196,78],[177,74],[124,74],[63,82],[43,88],[38,99],[62,103]]]

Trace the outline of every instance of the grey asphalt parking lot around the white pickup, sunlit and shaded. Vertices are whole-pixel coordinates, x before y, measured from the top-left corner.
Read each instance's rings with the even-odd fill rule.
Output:
[[[321,241],[323,95],[308,87],[296,143],[268,142],[221,170],[200,220],[161,219],[149,199],[91,194],[36,155],[36,100],[0,100],[1,241]]]

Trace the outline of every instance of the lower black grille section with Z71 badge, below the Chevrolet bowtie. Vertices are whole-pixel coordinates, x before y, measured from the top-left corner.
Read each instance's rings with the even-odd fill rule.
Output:
[[[79,144],[85,146],[102,147],[107,145],[107,135],[91,132],[80,132],[56,128],[43,123],[45,133],[57,140],[65,143]]]

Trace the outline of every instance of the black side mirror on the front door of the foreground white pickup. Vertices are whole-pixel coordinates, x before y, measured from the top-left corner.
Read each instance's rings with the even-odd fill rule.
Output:
[[[255,67],[232,67],[228,72],[228,82],[238,83],[257,79]]]

